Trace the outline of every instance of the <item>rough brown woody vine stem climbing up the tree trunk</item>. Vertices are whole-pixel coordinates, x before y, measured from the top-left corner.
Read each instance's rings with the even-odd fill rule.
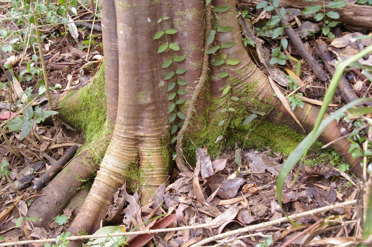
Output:
[[[177,167],[182,171],[182,172],[187,172],[189,171],[186,165],[184,164],[184,160],[182,159],[182,140],[184,137],[184,134],[191,124],[192,120],[192,114],[195,111],[197,107],[197,99],[199,97],[199,94],[201,92],[201,89],[203,88],[206,80],[207,80],[207,75],[208,75],[208,65],[209,65],[209,55],[207,54],[207,51],[209,50],[209,45],[207,44],[207,39],[209,36],[209,33],[211,32],[212,29],[212,7],[211,3],[208,3],[206,5],[206,17],[205,17],[205,35],[204,35],[204,54],[203,54],[203,67],[201,70],[201,76],[199,79],[199,82],[196,84],[195,90],[192,93],[191,100],[190,100],[190,105],[187,109],[187,114],[186,114],[186,119],[184,122],[184,125],[180,129],[180,132],[178,132],[177,136],[177,145],[176,145],[176,163]]]

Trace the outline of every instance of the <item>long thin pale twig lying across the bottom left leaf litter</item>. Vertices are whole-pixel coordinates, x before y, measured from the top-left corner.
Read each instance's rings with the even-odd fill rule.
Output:
[[[107,237],[121,237],[121,236],[129,236],[129,235],[142,235],[142,234],[149,234],[149,233],[160,233],[160,232],[173,232],[173,231],[182,231],[188,229],[197,229],[197,228],[204,228],[210,226],[220,226],[221,223],[208,223],[208,224],[200,224],[200,225],[193,225],[193,226],[183,226],[183,227],[175,227],[175,228],[165,228],[165,229],[156,229],[156,230],[144,230],[139,232],[124,232],[124,233],[112,233],[112,234],[94,234],[94,235],[85,235],[85,236],[74,236],[68,237],[66,240],[68,241],[76,241],[82,239],[97,239],[97,238],[107,238]],[[26,240],[26,241],[17,241],[17,242],[8,242],[0,244],[0,247],[3,246],[13,246],[13,245],[27,245],[27,244],[41,244],[41,243],[50,243],[54,242],[57,239],[37,239],[37,240]]]

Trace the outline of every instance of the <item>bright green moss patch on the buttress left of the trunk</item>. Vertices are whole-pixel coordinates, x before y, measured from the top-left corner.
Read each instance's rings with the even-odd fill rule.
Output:
[[[104,138],[113,130],[113,124],[106,121],[104,65],[101,65],[89,85],[68,94],[60,103],[60,107],[62,118],[85,134],[87,141],[80,150],[89,148],[88,152],[92,155],[94,163],[99,164],[110,141],[110,138]]]

